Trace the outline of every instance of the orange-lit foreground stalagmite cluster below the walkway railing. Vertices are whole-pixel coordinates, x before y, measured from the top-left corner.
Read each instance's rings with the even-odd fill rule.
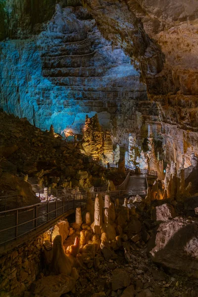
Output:
[[[122,247],[123,242],[128,240],[124,230],[130,213],[134,214],[133,209],[126,207],[128,205],[120,205],[119,199],[116,199],[114,204],[108,192],[104,201],[101,194],[97,194],[95,202],[92,198],[92,194],[88,193],[86,209],[76,208],[75,222],[71,227],[67,221],[54,227],[51,236],[52,249],[48,250],[49,242],[44,248],[49,271],[55,276],[64,275],[68,281],[68,290],[73,292],[79,270],[99,266],[97,254],[102,253],[106,259],[116,256],[114,250]],[[44,277],[44,281],[49,277]]]

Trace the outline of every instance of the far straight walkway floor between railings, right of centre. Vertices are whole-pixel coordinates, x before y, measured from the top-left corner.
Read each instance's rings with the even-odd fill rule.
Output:
[[[126,187],[126,191],[128,191],[128,195],[134,195],[137,194],[140,196],[146,196],[147,195],[147,181],[145,178],[145,175],[131,175],[129,183]]]

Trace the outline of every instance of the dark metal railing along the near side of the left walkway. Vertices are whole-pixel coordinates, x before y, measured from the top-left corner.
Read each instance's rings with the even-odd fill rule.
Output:
[[[106,191],[100,192],[103,198],[105,193]],[[111,191],[110,196],[111,198],[121,198],[126,193],[127,190]],[[88,192],[69,194],[45,203],[0,211],[0,245],[16,240],[60,215],[64,215],[68,210],[81,206],[87,201],[87,194]],[[92,199],[95,200],[98,193],[91,194]]]

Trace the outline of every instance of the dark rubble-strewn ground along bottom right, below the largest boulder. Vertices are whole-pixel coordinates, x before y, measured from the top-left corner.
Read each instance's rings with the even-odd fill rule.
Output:
[[[131,248],[130,260],[124,251],[116,253],[116,259],[105,260],[98,255],[99,267],[81,272],[74,297],[196,297],[198,281],[190,280],[177,273],[165,273],[147,256],[144,242]],[[64,295],[66,297],[67,295]]]

